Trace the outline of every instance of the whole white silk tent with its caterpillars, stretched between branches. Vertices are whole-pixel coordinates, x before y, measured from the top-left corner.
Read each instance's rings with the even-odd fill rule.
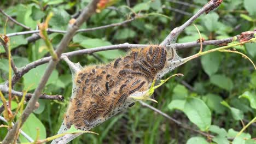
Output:
[[[85,68],[64,58],[72,71],[73,89],[71,103],[58,134],[64,133],[72,125],[76,129],[90,130],[134,105],[138,101],[135,98],[147,95],[153,80],[160,80],[193,58],[179,57],[174,47],[150,45],[143,49],[132,49],[126,57],[117,58],[106,65]],[[79,135],[67,134],[52,143],[67,143]]]

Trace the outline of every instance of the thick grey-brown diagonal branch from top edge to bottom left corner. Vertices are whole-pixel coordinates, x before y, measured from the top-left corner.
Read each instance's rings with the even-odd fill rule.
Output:
[[[63,51],[65,51],[67,45],[69,44],[69,42],[73,38],[75,32],[83,24],[83,22],[88,20],[88,18],[92,14],[95,13],[96,5],[97,5],[98,2],[99,2],[99,0],[91,1],[84,8],[82,14],[78,17],[77,21],[75,21],[75,23],[69,28],[68,32],[64,35],[64,37],[62,38],[60,44],[57,46],[57,49],[55,51],[57,53],[58,57],[60,57],[61,54],[63,53]],[[30,99],[30,101],[28,101],[26,109],[22,113],[21,119],[16,121],[13,128],[8,131],[7,135],[4,137],[4,140],[2,142],[3,144],[9,144],[13,141],[13,137],[17,134],[19,128],[22,127],[22,125],[24,124],[24,122],[26,121],[26,119],[28,118],[30,113],[33,112],[33,110],[35,108],[35,104],[39,99],[39,95],[42,92],[46,82],[48,81],[51,73],[55,69],[58,62],[59,61],[50,61],[48,67],[45,70],[45,73],[44,73],[42,79],[40,80],[40,83],[39,83],[38,87],[34,91],[32,98]]]

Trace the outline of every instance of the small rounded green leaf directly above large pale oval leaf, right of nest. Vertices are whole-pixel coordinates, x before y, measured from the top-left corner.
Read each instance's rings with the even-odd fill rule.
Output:
[[[173,89],[172,99],[185,99],[188,97],[188,89],[183,85],[177,85]]]

